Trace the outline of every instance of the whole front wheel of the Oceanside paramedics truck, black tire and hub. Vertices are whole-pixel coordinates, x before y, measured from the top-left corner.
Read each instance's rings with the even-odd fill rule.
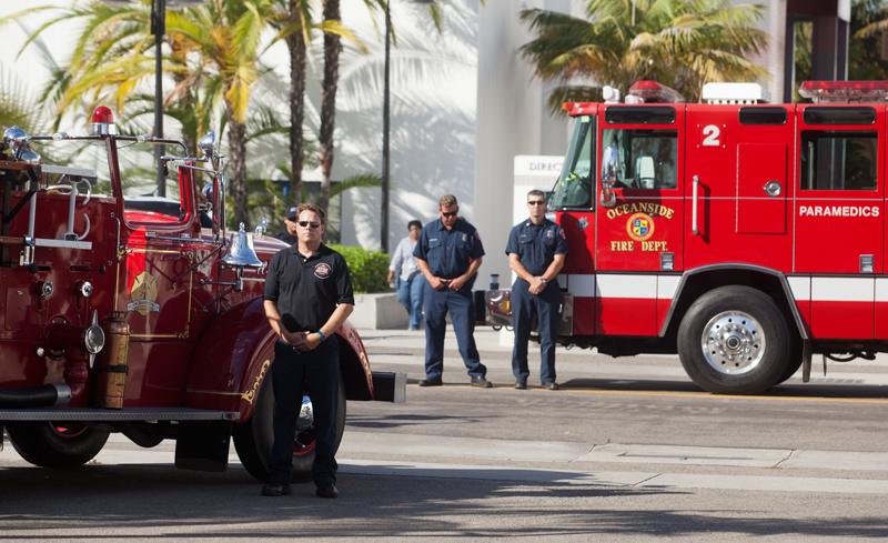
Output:
[[[777,384],[789,370],[793,343],[774,300],[749,286],[707,292],[678,326],[682,365],[700,388],[718,394],[758,394]]]

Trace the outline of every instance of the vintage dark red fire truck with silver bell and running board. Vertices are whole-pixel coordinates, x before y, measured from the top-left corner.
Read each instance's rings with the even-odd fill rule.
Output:
[[[270,259],[287,245],[243,225],[229,238],[212,132],[200,141],[202,155],[189,157],[182,141],[118,135],[100,107],[90,134],[28,135],[17,127],[3,134],[0,428],[42,466],[83,464],[121,432],[145,448],[175,439],[176,466],[224,471],[233,435],[246,470],[265,480],[276,336],[261,293]],[[127,169],[153,163],[155,145],[182,148],[182,157],[161,158],[179,180],[171,214],[129,209],[123,195]],[[49,163],[71,151],[105,173]],[[212,179],[209,205],[199,200],[200,175]],[[347,322],[333,341],[342,350],[341,440],[346,400],[403,402],[406,380],[371,372]],[[314,456],[306,394],[295,481],[310,480]]]

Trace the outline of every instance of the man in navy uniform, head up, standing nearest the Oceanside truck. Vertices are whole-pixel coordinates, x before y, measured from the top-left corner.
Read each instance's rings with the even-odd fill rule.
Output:
[[[508,234],[508,265],[518,279],[512,285],[512,320],[515,326],[515,349],[512,352],[512,373],[515,388],[526,389],[531,371],[527,369],[527,340],[534,313],[539,323],[542,366],[539,380],[543,388],[558,390],[555,383],[555,335],[558,331],[561,288],[558,272],[567,255],[564,230],[546,219],[546,199],[543,191],[527,193],[531,218],[516,224]]]

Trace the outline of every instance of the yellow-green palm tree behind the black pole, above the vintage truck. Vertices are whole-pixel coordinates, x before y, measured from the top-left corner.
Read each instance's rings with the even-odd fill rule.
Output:
[[[235,221],[245,223],[249,223],[245,123],[250,88],[263,73],[260,59],[264,51],[297,30],[287,24],[268,36],[265,30],[275,17],[275,1],[212,0],[200,8],[167,14],[167,37],[173,57],[164,62],[163,69],[173,74],[176,84],[164,102],[176,102],[181,113],[193,112],[185,128],[193,127],[194,138],[198,130],[208,128],[212,110],[223,102],[233,214]],[[74,4],[33,33],[31,40],[59,21],[72,18],[85,21],[69,64],[57,73],[44,92],[44,98],[56,103],[59,120],[65,111],[79,110],[82,103],[92,109],[110,100],[117,102],[122,114],[128,99],[153,77],[149,7],[150,0],[124,8]],[[194,91],[199,86],[203,89],[202,102]]]

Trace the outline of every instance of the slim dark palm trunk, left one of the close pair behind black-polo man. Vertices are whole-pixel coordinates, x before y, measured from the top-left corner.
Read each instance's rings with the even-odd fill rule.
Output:
[[[290,0],[290,22],[299,20],[299,2]],[[305,120],[305,34],[294,32],[286,38],[290,48],[290,192],[293,202],[302,202],[302,164],[305,161],[302,124]],[[286,205],[286,202],[284,202]]]

